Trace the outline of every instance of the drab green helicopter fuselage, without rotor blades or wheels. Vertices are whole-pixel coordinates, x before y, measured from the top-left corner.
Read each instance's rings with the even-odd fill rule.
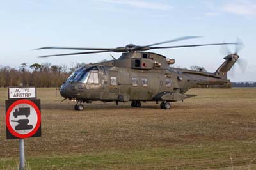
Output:
[[[225,62],[224,67],[236,61]],[[221,69],[223,70],[223,66]],[[84,78],[79,78],[79,73],[82,76],[83,72],[86,72]],[[70,100],[83,102],[93,100],[173,102],[191,97],[185,93],[196,84],[228,82],[225,74],[227,72],[218,70],[215,73],[207,73],[172,68],[166,62],[166,58],[159,54],[128,52],[119,59],[80,68],[73,75],[75,77],[71,77],[61,86],[60,93]],[[78,81],[74,81],[76,78]]]

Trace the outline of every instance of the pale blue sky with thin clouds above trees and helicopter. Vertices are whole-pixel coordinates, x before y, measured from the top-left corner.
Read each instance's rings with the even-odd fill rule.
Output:
[[[204,36],[170,43],[234,42],[248,61],[246,72],[234,69],[231,81],[256,81],[256,1],[0,1],[0,58],[2,66],[18,68],[20,63],[71,65],[118,58],[119,53],[37,58],[42,54],[74,50],[41,50],[44,46],[119,47],[129,43],[148,45],[180,36]],[[230,46],[234,51],[234,47]],[[214,72],[224,61],[220,47],[152,50],[176,60],[175,66],[204,66]]]

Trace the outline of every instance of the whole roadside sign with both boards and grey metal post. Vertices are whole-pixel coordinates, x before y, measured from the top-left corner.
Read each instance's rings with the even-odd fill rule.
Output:
[[[24,138],[41,136],[40,100],[36,88],[9,88],[6,105],[6,138],[19,139],[20,169],[25,169]]]

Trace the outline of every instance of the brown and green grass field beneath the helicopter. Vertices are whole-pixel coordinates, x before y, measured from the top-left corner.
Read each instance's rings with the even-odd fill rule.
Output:
[[[55,89],[38,89],[42,137],[25,139],[28,169],[256,169],[256,88],[191,89],[197,97],[94,102],[74,111]],[[17,169],[19,140],[6,140],[0,89],[0,169]]]

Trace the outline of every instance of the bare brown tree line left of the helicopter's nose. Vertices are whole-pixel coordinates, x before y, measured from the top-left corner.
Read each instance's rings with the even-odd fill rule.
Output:
[[[51,65],[51,63],[22,63],[19,68],[0,65],[0,87],[36,86],[38,88],[60,87],[70,73],[85,63]]]

